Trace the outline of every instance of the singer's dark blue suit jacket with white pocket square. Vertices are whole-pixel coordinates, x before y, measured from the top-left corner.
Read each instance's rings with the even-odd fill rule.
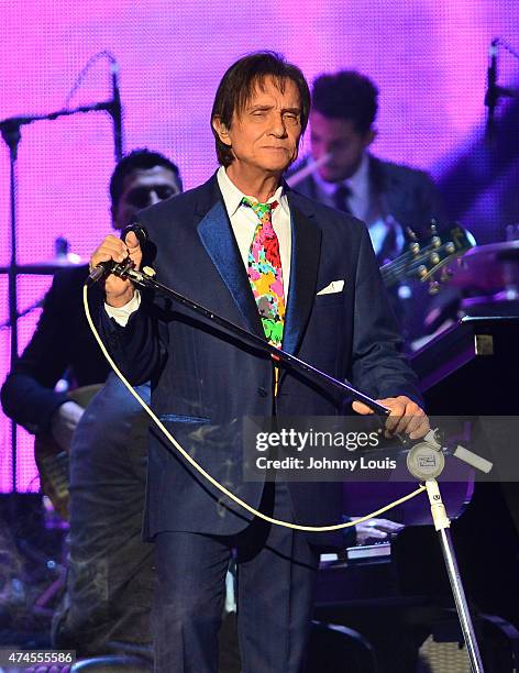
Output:
[[[365,225],[288,191],[291,275],[283,349],[373,397],[419,399],[416,378],[399,353],[400,336],[382,285]],[[156,246],[157,278],[206,308],[262,335],[249,278],[216,177],[140,213]],[[333,280],[341,293],[317,296]],[[101,331],[133,384],[152,379],[155,412],[184,448],[253,507],[263,484],[242,479],[244,416],[269,417],[273,367],[187,309],[143,296],[125,328],[101,311]],[[287,372],[279,416],[334,416],[343,400]],[[339,521],[340,484],[289,484],[296,520]],[[185,464],[162,433],[151,430],[145,530],[231,534],[251,515]],[[318,538],[324,541],[324,537]]]

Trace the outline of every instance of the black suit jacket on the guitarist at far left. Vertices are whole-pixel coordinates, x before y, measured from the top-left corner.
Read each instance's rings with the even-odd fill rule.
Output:
[[[109,364],[88,327],[82,307],[87,266],[58,272],[36,330],[1,391],[5,413],[30,432],[46,432],[53,412],[67,400],[55,393],[67,377],[78,386],[103,383]]]

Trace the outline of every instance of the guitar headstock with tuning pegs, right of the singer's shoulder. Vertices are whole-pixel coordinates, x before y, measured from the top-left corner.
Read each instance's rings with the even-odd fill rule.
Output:
[[[416,279],[429,282],[429,291],[435,294],[441,283],[451,277],[448,265],[475,244],[471,234],[459,223],[439,231],[437,222],[431,220],[430,235],[423,242],[411,230],[407,234],[410,239],[407,251],[380,268],[387,287],[405,278]]]

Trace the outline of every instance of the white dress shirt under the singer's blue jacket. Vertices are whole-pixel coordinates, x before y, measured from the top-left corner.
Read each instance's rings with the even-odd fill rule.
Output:
[[[223,203],[231,221],[232,231],[240,250],[243,265],[246,269],[249,251],[260,220],[252,208],[242,206],[242,199],[243,197],[246,197],[251,201],[257,201],[257,199],[240,191],[228,176],[223,166],[220,166],[218,169],[217,180],[220,191],[222,192]],[[290,280],[291,227],[288,199],[283,192],[281,186],[276,189],[274,196],[268,199],[267,203],[272,203],[273,201],[278,202],[278,206],[272,211],[272,224],[279,241],[279,256],[281,258],[283,286],[286,304]],[[172,232],[172,234],[174,234],[174,232]],[[104,309],[110,318],[113,318],[120,326],[125,327],[130,316],[139,309],[140,305],[141,293],[136,289],[133,298],[124,306],[115,308],[104,304]]]

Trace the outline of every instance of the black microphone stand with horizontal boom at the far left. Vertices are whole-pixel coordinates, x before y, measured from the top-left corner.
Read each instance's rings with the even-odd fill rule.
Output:
[[[113,115],[115,100],[93,103],[91,106],[81,106],[79,108],[63,109],[55,112],[48,112],[47,114],[31,114],[11,117],[0,121],[0,133],[4,143],[9,148],[9,200],[10,200],[10,241],[11,241],[11,260],[8,269],[9,277],[9,323],[11,326],[11,344],[10,344],[10,361],[11,368],[18,358],[18,293],[16,293],[16,277],[18,277],[18,262],[16,262],[16,194],[18,194],[18,175],[16,175],[16,161],[18,161],[18,147],[22,139],[21,126],[24,124],[31,124],[36,121],[54,121],[60,117],[70,117],[71,114],[79,114],[86,112],[97,112],[104,110]],[[119,139],[120,141],[120,139]],[[118,147],[118,141],[115,140],[115,147]],[[11,421],[11,461],[12,461],[12,490],[16,490],[16,423]]]

